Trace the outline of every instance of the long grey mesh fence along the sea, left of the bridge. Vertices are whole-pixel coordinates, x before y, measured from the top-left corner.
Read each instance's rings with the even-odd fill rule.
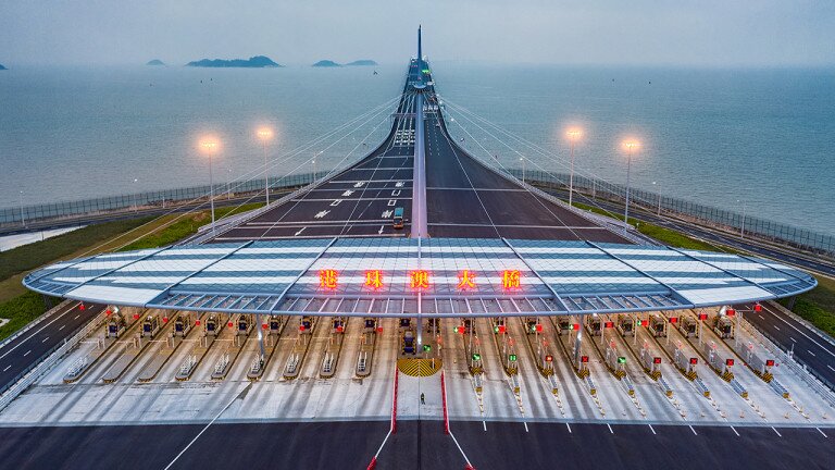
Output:
[[[322,177],[326,172],[316,172]],[[312,173],[299,173],[284,177],[270,178],[271,188],[294,187],[309,184],[313,181]],[[37,222],[45,219],[62,219],[80,214],[94,214],[117,211],[133,207],[161,207],[184,202],[198,198],[208,198],[209,185],[192,186],[159,191],[108,196],[75,201],[61,201],[46,205],[23,206],[0,209],[0,226],[20,225],[24,222]],[[233,183],[215,183],[214,194],[222,197],[226,194],[246,194],[264,189],[264,180],[249,180]],[[23,217],[23,219],[21,219]]]

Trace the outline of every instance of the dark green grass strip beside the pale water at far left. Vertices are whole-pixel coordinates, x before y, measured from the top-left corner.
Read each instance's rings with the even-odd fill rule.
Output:
[[[0,252],[0,280],[32,271],[80,249],[100,244],[150,220],[150,218],[144,218],[88,225],[57,237]]]

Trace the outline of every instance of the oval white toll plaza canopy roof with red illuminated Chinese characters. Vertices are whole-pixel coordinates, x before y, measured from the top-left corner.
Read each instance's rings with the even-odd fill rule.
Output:
[[[787,297],[817,285],[805,272],[747,256],[501,238],[172,246],[60,262],[23,283],[99,304],[357,317],[670,310]]]

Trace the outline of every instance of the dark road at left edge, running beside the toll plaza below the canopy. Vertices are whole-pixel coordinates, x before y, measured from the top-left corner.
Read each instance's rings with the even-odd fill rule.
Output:
[[[0,389],[26,371],[52,347],[82,329],[104,306],[72,302],[0,348]]]

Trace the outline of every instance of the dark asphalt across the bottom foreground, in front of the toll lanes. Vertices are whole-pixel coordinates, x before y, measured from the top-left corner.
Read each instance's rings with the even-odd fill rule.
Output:
[[[835,430],[647,424],[452,422],[488,469],[831,469]],[[387,421],[0,428],[4,468],[365,469]],[[170,466],[170,467],[169,467]],[[400,421],[377,469],[462,469],[440,421]]]

